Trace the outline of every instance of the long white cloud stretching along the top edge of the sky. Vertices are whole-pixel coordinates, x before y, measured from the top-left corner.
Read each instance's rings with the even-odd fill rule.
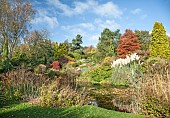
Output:
[[[82,14],[84,12],[94,13],[100,16],[113,16],[114,18],[120,17],[123,12],[113,2],[99,4],[95,0],[87,0],[86,2],[75,1],[73,7],[62,3],[60,0],[47,0],[49,5],[55,6],[60,9],[66,16]]]

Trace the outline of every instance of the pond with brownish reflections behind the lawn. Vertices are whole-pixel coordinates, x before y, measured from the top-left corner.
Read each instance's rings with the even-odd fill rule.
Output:
[[[132,89],[127,86],[114,86],[111,84],[92,84],[89,82],[79,82],[79,87],[86,87],[93,102],[97,102],[98,107],[109,110],[131,112],[131,104],[134,96]]]

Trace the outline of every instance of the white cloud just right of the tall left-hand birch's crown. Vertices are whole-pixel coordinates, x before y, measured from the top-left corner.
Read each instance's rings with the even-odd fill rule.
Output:
[[[32,20],[33,24],[47,24],[50,28],[58,26],[58,20],[56,17],[50,17],[47,15],[48,12],[43,9],[39,9],[37,17]]]

